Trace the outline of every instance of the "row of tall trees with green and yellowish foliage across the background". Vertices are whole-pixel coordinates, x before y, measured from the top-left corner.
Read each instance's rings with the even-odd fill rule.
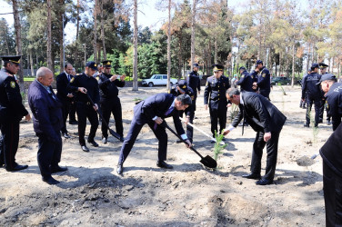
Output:
[[[63,70],[63,27],[74,23],[76,37],[65,45],[65,61],[78,71],[85,58],[113,60],[116,73],[136,78],[166,72],[181,76],[192,62],[201,64],[204,74],[211,74],[216,63],[236,74],[239,66],[251,69],[257,59],[272,74],[293,78],[324,60],[330,71],[341,71],[341,0],[307,1],[304,8],[295,0],[249,0],[240,10],[226,0],[160,0],[156,7],[169,20],[156,32],[131,28],[141,4],[137,0],[7,2],[14,7],[15,31],[0,20],[0,53],[23,54],[25,68]]]

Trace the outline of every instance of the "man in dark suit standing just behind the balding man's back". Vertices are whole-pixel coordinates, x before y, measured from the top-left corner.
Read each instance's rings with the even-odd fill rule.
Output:
[[[62,103],[62,111],[63,111],[63,127],[62,127],[62,134],[65,138],[70,138],[67,134],[66,130],[66,119],[67,115],[70,112],[71,103],[74,99],[74,94],[69,93],[66,87],[69,84],[70,80],[74,78],[72,75],[73,72],[73,65],[72,64],[65,64],[65,71],[62,74],[58,74],[55,78],[56,86],[57,86],[57,97],[59,101]]]

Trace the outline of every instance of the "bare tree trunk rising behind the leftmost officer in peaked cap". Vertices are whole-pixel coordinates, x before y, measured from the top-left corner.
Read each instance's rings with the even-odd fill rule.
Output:
[[[18,12],[18,4],[16,0],[12,0],[12,7],[14,12],[14,19],[15,19],[15,44],[16,44],[16,55],[23,55],[22,52],[22,39],[21,39],[21,24],[20,24],[20,18],[19,18],[19,12]],[[22,70],[23,64],[20,63],[19,71],[17,73],[19,77],[19,84],[22,86],[24,84],[24,75]]]

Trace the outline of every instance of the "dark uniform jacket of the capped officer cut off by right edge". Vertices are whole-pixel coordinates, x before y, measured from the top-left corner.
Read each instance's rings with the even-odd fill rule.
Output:
[[[327,114],[331,116],[333,130],[335,131],[341,123],[342,117],[342,84],[333,84],[326,94]]]

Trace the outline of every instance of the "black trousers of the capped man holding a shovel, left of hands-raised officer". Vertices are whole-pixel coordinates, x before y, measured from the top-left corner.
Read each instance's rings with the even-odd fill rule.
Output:
[[[91,127],[88,135],[88,142],[94,141],[96,130],[98,127],[97,112],[94,110],[91,104],[77,102],[76,113],[78,118],[78,140],[81,146],[85,145],[85,127],[86,118],[88,118]]]

